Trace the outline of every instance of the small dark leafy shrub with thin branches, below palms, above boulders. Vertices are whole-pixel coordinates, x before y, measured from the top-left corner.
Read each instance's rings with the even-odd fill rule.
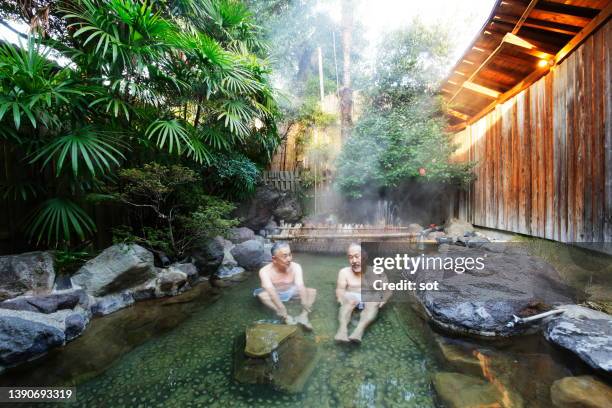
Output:
[[[237,225],[230,218],[235,207],[204,194],[199,177],[187,167],[150,163],[120,170],[119,178],[110,196],[132,209],[133,222],[115,229],[115,241],[182,258]]]

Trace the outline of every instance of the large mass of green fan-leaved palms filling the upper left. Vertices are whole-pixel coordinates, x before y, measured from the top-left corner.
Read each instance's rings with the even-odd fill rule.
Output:
[[[242,3],[32,5],[42,10],[35,34],[0,46],[0,138],[24,158],[2,194],[39,203],[27,226],[35,241],[66,246],[92,234],[82,205],[125,178],[121,167],[180,161],[215,176],[220,158],[239,157],[228,188],[252,190],[278,145],[277,107],[260,29]],[[30,11],[0,9],[31,23]]]

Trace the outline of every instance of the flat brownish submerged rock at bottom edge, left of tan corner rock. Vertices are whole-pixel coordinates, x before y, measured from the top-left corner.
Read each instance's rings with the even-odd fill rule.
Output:
[[[440,372],[434,375],[433,384],[449,408],[523,407],[523,401],[516,393],[502,394],[495,385],[470,375]]]

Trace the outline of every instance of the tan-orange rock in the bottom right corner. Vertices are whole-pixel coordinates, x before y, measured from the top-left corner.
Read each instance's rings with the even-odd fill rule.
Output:
[[[612,388],[590,375],[566,377],[550,387],[550,398],[558,408],[609,408]]]

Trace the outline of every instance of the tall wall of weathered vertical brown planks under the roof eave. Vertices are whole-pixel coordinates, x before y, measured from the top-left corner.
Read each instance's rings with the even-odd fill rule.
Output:
[[[459,217],[561,242],[612,242],[610,21],[563,63],[455,135],[476,163]]]

